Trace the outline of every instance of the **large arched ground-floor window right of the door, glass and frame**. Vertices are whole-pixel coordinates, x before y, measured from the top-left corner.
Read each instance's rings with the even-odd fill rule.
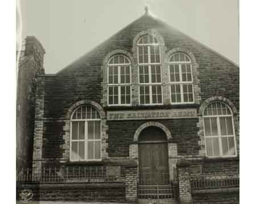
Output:
[[[220,101],[203,112],[206,154],[209,157],[236,156],[236,137],[231,109]]]

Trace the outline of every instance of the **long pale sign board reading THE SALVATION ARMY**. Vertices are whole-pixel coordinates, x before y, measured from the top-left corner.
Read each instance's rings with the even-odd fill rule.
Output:
[[[108,120],[152,120],[172,118],[196,118],[197,109],[160,109],[138,111],[108,111]]]

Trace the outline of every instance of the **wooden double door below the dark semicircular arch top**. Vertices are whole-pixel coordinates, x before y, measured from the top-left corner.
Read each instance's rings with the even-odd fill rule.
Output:
[[[166,142],[139,144],[139,184],[169,184],[168,148]]]

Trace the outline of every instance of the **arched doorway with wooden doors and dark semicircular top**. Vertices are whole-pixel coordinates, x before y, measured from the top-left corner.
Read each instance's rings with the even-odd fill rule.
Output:
[[[168,146],[164,131],[149,126],[141,131],[139,144],[139,184],[168,185]]]

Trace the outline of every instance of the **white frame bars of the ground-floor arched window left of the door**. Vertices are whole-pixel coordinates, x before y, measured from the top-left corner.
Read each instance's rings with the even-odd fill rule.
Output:
[[[82,105],[83,106],[83,105]],[[84,106],[88,106],[89,105],[84,105]],[[92,118],[92,119],[72,119],[73,118],[73,114],[77,112],[77,109],[81,108],[77,107],[75,109],[75,111],[73,111],[73,113],[71,114],[71,121],[70,121],[70,139],[69,139],[69,160],[71,162],[87,162],[87,161],[101,161],[102,160],[102,152],[101,152],[101,146],[102,146],[102,141],[101,141],[101,118]],[[96,108],[92,107],[93,109],[95,109],[97,111]],[[92,114],[92,112],[91,112]],[[72,139],[72,122],[84,122],[84,139]],[[88,121],[100,121],[100,139],[88,139]],[[79,130],[79,128],[77,129]],[[85,152],[85,159],[72,159],[72,142],[81,142],[84,141],[84,152]],[[88,141],[100,141],[100,159],[88,159]],[[79,149],[77,150],[79,152]],[[95,154],[95,148],[94,148],[94,154]]]

